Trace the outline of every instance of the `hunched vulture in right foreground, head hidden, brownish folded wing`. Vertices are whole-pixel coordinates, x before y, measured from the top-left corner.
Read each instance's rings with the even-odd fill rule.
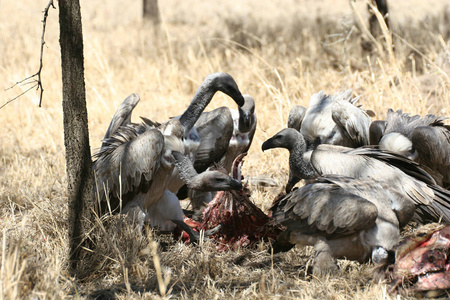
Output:
[[[399,242],[400,228],[414,210],[407,197],[386,183],[318,177],[274,203],[272,217],[286,230],[272,244],[273,251],[286,251],[295,244],[314,246],[314,274],[336,268],[334,258],[381,264]]]

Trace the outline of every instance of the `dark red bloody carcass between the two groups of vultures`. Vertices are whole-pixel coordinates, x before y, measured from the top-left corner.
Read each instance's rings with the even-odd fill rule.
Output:
[[[243,158],[247,153],[239,155],[233,162],[232,176],[241,178]],[[205,232],[215,229],[209,238],[217,243],[219,251],[236,250],[240,247],[252,247],[260,241],[276,239],[283,231],[275,225],[252,201],[250,190],[244,187],[241,191],[218,192],[214,199],[203,210],[201,222],[185,217],[185,222],[194,229]],[[189,243],[189,236],[182,239]]]

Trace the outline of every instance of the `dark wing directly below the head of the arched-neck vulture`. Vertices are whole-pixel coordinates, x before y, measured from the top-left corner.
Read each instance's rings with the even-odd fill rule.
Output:
[[[230,109],[219,107],[201,114],[195,123],[200,145],[195,156],[195,169],[203,172],[225,154],[233,134],[233,118]]]

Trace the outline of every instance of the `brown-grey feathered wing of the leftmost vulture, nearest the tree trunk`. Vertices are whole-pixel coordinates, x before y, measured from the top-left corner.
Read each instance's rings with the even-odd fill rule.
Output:
[[[164,136],[154,128],[138,133],[132,126],[120,127],[94,155],[96,194],[104,212],[107,200],[114,210],[139,192],[146,192],[160,167]]]

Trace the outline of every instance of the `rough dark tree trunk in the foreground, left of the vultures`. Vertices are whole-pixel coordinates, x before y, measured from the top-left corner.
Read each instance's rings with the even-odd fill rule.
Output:
[[[69,203],[70,268],[75,274],[90,219],[94,175],[87,123],[79,0],[59,0],[64,145]]]

